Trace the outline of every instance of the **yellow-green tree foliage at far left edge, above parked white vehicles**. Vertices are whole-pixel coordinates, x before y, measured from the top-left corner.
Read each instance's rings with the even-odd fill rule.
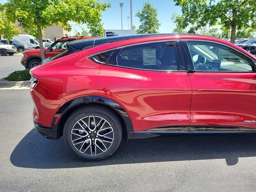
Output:
[[[0,4],[0,39],[3,38],[11,40],[14,36],[20,34],[20,30],[15,28],[13,22],[10,22],[6,17],[6,13],[2,4]]]

